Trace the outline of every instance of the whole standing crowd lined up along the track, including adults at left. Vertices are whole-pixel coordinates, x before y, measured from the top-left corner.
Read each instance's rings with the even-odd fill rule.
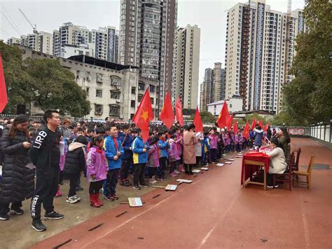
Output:
[[[242,129],[234,133],[232,129],[212,127],[196,133],[193,123],[182,127],[174,123],[170,129],[151,126],[144,141],[139,128],[117,125],[110,119],[104,124],[64,119],[60,126],[55,110],[46,111],[43,122],[41,126],[20,115],[4,124],[0,138],[0,220],[9,219],[10,203],[11,213],[22,215],[22,201],[32,198],[32,227],[37,231],[46,230],[41,222],[41,203],[46,210],[44,218],[64,217],[53,206],[53,198],[62,196],[64,179],[69,180],[67,203],[81,200],[77,191],[83,190],[83,177],[90,183],[90,206],[99,208],[103,206],[101,189],[104,199],[115,201],[118,183],[139,190],[181,172],[192,175],[193,167],[216,163],[227,152],[260,147],[263,140],[272,137],[270,128],[263,133],[259,126],[251,130],[247,140]]]

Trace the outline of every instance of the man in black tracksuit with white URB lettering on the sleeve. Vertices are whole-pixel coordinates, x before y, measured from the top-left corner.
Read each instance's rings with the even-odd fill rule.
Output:
[[[59,183],[60,163],[60,126],[59,112],[47,110],[43,116],[46,123],[39,129],[30,149],[30,158],[36,166],[36,189],[31,201],[32,228],[36,231],[45,231],[41,222],[41,203],[46,213],[44,219],[59,220],[64,217],[55,213],[53,198],[57,193]]]

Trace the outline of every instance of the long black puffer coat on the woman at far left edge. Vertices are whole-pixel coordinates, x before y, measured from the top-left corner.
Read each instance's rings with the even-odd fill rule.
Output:
[[[0,138],[0,152],[3,153],[2,180],[0,181],[0,202],[13,203],[31,198],[34,194],[34,170],[27,168],[30,163],[29,149],[23,147],[29,142],[25,133],[18,131],[9,137],[9,129],[4,129]]]

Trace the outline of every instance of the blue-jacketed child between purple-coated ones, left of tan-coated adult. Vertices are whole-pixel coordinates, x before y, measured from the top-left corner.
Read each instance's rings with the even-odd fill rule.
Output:
[[[167,167],[167,159],[168,159],[168,142],[166,134],[168,133],[167,130],[160,130],[159,135],[159,141],[158,141],[158,148],[160,149],[159,152],[159,167],[158,167],[158,178],[161,181],[167,180],[167,177],[165,177],[165,169]]]

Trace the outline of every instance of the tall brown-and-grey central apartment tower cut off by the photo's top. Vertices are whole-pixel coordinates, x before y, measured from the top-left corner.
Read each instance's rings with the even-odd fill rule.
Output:
[[[161,107],[172,89],[177,0],[121,0],[120,64],[139,67],[139,74],[158,80]]]

